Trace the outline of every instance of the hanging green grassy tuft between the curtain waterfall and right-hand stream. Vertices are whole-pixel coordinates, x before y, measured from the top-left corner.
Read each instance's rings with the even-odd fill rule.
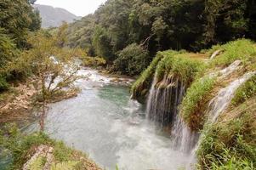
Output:
[[[180,106],[181,116],[193,130],[198,130],[203,126],[203,105],[205,105],[205,99],[207,99],[215,83],[216,77],[206,76],[197,79],[187,89],[185,98]]]

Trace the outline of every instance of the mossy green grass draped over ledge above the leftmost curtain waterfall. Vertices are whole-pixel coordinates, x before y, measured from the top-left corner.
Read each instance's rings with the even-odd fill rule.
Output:
[[[204,67],[202,60],[191,58],[189,54],[185,54],[185,51],[158,52],[151,65],[134,82],[131,89],[133,97],[138,99],[145,96],[145,90],[149,91],[155,72],[158,81],[161,81],[165,74],[173,74],[189,85],[196,77],[196,73],[202,71]]]

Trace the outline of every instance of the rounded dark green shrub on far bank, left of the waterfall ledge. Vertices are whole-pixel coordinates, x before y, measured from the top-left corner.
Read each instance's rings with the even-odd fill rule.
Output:
[[[136,43],[128,45],[117,53],[113,71],[120,71],[129,76],[138,75],[150,64],[148,51]]]

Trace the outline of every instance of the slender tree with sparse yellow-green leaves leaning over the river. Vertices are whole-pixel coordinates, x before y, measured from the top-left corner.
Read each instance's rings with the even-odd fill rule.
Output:
[[[57,36],[50,35],[46,31],[38,31],[31,34],[28,42],[31,48],[22,53],[13,65],[14,69],[30,69],[39,78],[42,96],[42,114],[40,115],[40,127],[44,129],[46,105],[54,95],[64,88],[70,88],[72,82],[77,79],[78,66],[72,60],[72,51],[60,48]],[[66,92],[66,91],[65,91]]]

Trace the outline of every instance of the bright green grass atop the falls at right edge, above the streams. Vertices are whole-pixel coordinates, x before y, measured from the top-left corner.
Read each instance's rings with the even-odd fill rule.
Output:
[[[239,39],[233,42],[228,42],[225,45],[213,46],[211,52],[220,49],[223,51],[218,57],[213,59],[212,66],[216,65],[230,65],[236,59],[242,60],[244,65],[251,64],[255,60],[256,46],[254,42],[247,39]]]

